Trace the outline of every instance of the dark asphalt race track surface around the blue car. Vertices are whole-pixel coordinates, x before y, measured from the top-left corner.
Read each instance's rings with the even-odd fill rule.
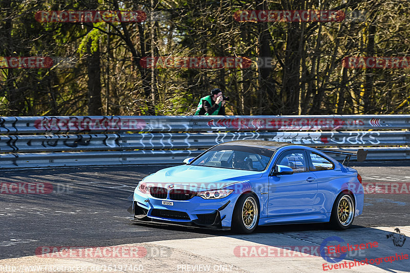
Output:
[[[410,182],[410,162],[351,164],[363,181]],[[53,184],[49,194],[0,195],[0,259],[35,255],[39,246],[108,246],[203,238],[230,232],[136,224],[126,219],[138,179],[167,166],[0,171],[1,182]],[[408,225],[409,194],[366,194],[354,226]],[[324,224],[258,227],[256,233],[325,230]]]

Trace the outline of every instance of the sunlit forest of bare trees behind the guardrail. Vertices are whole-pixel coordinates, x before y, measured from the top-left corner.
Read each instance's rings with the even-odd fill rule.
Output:
[[[229,115],[401,114],[410,69],[352,69],[349,56],[409,56],[402,0],[0,2],[0,56],[48,56],[47,69],[0,65],[1,116],[193,115],[219,87]],[[144,11],[134,22],[47,22],[38,11]],[[238,10],[342,10],[331,22],[238,21]],[[144,67],[147,57],[246,57],[249,67]],[[0,58],[2,58],[0,57]],[[271,58],[269,65],[256,60]]]

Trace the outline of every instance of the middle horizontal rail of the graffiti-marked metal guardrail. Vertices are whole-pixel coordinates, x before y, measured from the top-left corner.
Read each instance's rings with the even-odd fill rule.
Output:
[[[207,149],[222,142],[245,139],[312,147],[407,146],[410,144],[410,131],[2,135],[0,152]]]

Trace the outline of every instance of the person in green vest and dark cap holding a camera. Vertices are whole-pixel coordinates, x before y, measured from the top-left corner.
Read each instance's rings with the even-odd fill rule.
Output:
[[[221,89],[219,88],[212,89],[211,95],[201,98],[194,115],[195,116],[225,115],[224,104],[228,100],[229,100],[229,97],[222,96]]]

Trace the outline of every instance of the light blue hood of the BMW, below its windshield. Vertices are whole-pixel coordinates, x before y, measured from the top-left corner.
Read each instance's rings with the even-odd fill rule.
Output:
[[[144,178],[143,181],[147,184],[161,184],[162,187],[172,184],[176,189],[189,187],[190,190],[212,190],[261,176],[262,172],[257,171],[181,165],[159,170]]]

